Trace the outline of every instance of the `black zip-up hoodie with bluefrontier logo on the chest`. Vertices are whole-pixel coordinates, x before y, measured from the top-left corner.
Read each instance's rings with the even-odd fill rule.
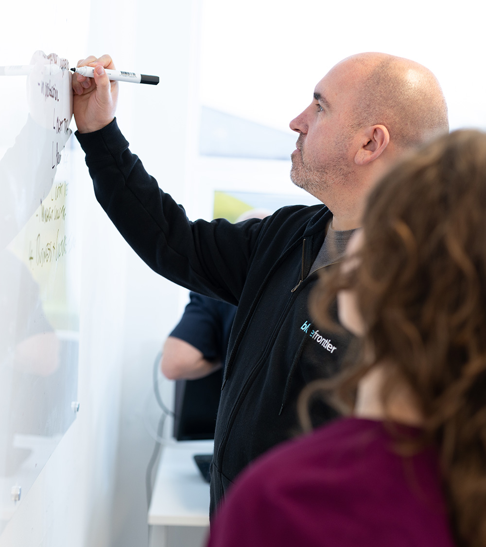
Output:
[[[99,203],[140,258],[181,286],[238,305],[216,421],[214,510],[248,463],[298,431],[303,386],[339,370],[349,337],[320,332],[307,307],[331,212],[291,206],[238,224],[190,222],[128,150],[116,120],[76,135]],[[322,420],[336,415],[320,411]]]

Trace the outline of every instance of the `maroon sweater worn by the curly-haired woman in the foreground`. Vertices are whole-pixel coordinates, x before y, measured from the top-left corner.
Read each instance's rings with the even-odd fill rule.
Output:
[[[437,453],[404,458],[382,422],[337,420],[251,464],[208,545],[452,547]]]

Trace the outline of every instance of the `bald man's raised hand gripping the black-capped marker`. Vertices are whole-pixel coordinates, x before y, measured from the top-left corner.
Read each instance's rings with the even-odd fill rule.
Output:
[[[90,133],[113,121],[118,102],[118,82],[110,81],[104,72],[105,68],[115,68],[109,55],[102,55],[99,59],[91,55],[78,62],[77,67],[83,66],[96,67],[95,77],[73,74],[73,114],[78,131]]]

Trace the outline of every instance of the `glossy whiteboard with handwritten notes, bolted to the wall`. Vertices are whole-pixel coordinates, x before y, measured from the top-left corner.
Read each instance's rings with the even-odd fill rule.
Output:
[[[0,76],[0,533],[77,410],[79,214],[69,63]]]

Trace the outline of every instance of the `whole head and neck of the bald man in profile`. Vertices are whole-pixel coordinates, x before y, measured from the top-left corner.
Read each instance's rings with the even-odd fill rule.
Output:
[[[379,178],[448,127],[446,101],[427,68],[383,53],[353,55],[331,68],[290,122],[299,133],[290,178],[329,207],[334,229],[356,228]]]

